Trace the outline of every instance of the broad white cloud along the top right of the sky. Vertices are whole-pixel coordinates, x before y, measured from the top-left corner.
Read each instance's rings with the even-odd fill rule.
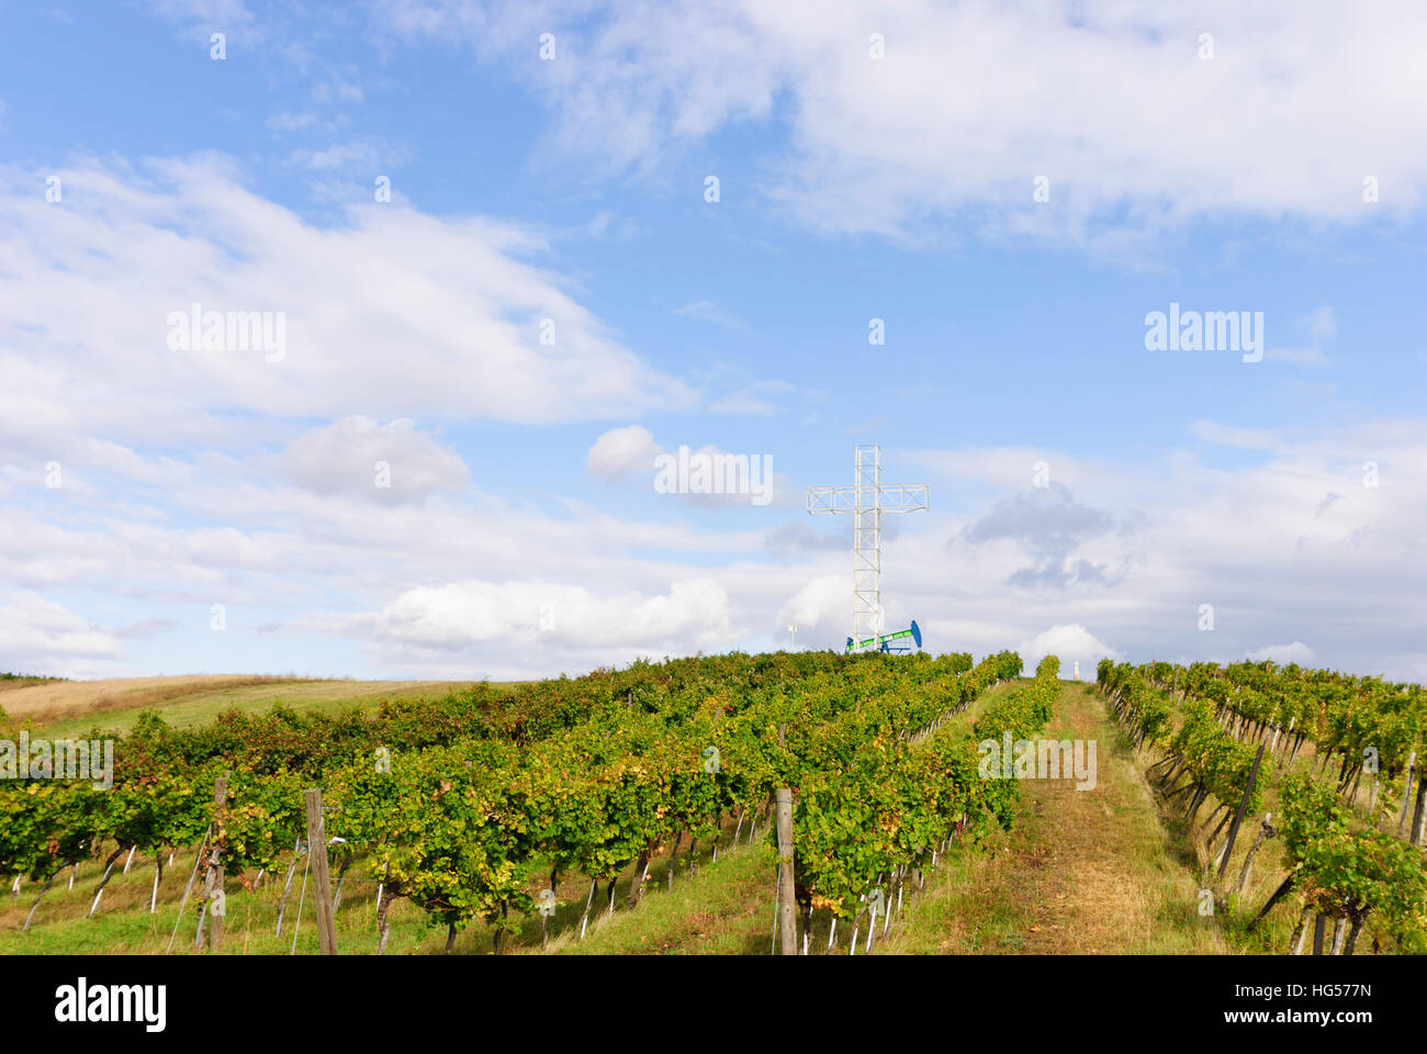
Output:
[[[1194,217],[1404,214],[1427,187],[1427,154],[1401,134],[1427,123],[1414,0],[913,0],[875,16],[850,0],[408,0],[380,13],[398,37],[509,60],[562,117],[558,143],[616,170],[656,170],[786,96],[786,153],[763,190],[826,231],[915,240],[926,217],[958,216],[1126,251],[1120,231]],[[528,61],[547,30],[559,61]],[[873,31],[883,60],[869,57]],[[1383,187],[1373,206],[1368,174]],[[1049,203],[1032,200],[1037,176]]]

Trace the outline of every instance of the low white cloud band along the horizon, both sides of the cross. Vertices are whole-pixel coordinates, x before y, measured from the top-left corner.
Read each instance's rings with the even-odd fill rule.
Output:
[[[324,441],[337,434],[320,433]],[[364,450],[382,428],[364,424],[360,434]],[[975,448],[943,453],[968,471],[976,463]],[[1057,484],[1070,494],[1046,516],[1065,506],[1075,518],[1047,524],[1049,541],[1006,518],[1016,507],[1006,503],[1029,490],[1029,463],[1007,454],[1007,470],[1019,468],[1005,487],[990,478],[980,497],[962,487],[958,506],[938,504],[933,488],[932,511],[902,517],[902,531],[885,537],[888,624],[916,618],[938,653],[1019,643],[1080,657],[1083,674],[1102,650],[1134,661],[1227,663],[1264,641],[1316,641],[1316,666],[1427,678],[1427,421],[1279,434],[1266,453],[1217,468],[1179,451],[1103,474],[1072,460],[1082,480]],[[235,627],[247,618],[240,613],[263,608],[253,621],[275,626],[274,647],[304,634],[352,638],[371,676],[425,677],[528,677],[639,654],[783,647],[791,621],[802,647],[841,648],[849,631],[846,521],[819,544],[771,547],[769,524],[715,528],[676,504],[668,520],[611,516],[571,498],[548,511],[485,494],[478,480],[381,504],[361,491],[274,483],[257,456],[176,461],[108,446],[88,457],[93,464],[67,470],[60,491],[46,490],[37,470],[0,473],[9,487],[0,580],[51,600],[104,583],[124,603],[120,616],[107,603],[94,608],[106,626],[205,621],[208,604],[225,603]],[[1368,458],[1380,466],[1376,488],[1361,483]],[[71,490],[70,474],[87,477],[90,490]],[[1099,513],[1113,530],[1097,528]],[[793,516],[775,520],[815,523]],[[989,526],[968,531],[977,523]],[[1104,571],[1085,574],[1082,564]],[[1203,603],[1216,610],[1212,633],[1197,627]],[[542,606],[557,613],[554,630],[538,628]],[[3,640],[23,638],[27,611],[10,614]],[[103,647],[104,631],[87,623],[68,631],[101,634]],[[121,643],[146,647],[141,637]],[[11,661],[49,667],[49,653],[31,647]],[[86,661],[111,670],[116,660]]]

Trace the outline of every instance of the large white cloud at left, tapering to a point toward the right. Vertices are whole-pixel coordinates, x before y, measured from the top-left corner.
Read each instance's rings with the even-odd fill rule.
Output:
[[[375,203],[320,229],[215,159],[61,174],[63,207],[0,170],[0,438],[20,447],[231,437],[228,411],[547,423],[691,398],[519,260],[545,251],[521,229]],[[283,313],[284,356],[170,350],[193,303]]]

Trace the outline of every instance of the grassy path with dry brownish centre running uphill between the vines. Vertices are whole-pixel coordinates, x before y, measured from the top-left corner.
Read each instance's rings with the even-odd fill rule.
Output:
[[[1097,783],[1027,780],[1019,823],[939,868],[885,953],[1237,951],[1199,914],[1194,860],[1159,818],[1090,684],[1065,683],[1047,738],[1095,740]]]

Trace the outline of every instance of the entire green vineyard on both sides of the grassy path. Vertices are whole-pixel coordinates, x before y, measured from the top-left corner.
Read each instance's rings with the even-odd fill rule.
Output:
[[[331,894],[320,921],[370,893],[344,953],[387,953],[398,908],[447,951],[467,930],[495,954],[598,950],[652,884],[675,904],[675,881],[695,900],[726,881],[756,890],[762,921],[748,925],[763,951],[783,935],[785,953],[865,954],[919,897],[987,881],[972,861],[1005,853],[1033,773],[987,771],[985,744],[1043,736],[1065,684],[1057,660],[1023,678],[1013,653],[805,651],[475,684],[368,711],[230,710],[193,728],[150,711],[118,740],[111,787],[0,781],[0,875],[17,904],[27,891],[7,947],[43,938],[56,884],[83,897],[78,925],[97,927],[137,854],[151,888],[126,907],[151,918],[143,947],[157,951],[218,948],[240,898],[295,950],[317,888]],[[1427,950],[1420,688],[1109,661],[1097,687],[1106,730],[1122,736],[1117,721],[1139,758],[1126,800],[1147,780],[1166,830],[1203,850],[1226,950],[1301,951],[1310,930],[1326,953]],[[1250,910],[1256,860],[1277,870]],[[178,887],[174,874],[163,887],[166,870]],[[83,928],[66,933],[86,947]]]

